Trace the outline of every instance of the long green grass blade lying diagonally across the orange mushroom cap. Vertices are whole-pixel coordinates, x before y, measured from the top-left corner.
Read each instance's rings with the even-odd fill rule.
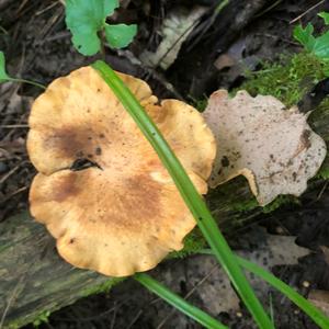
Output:
[[[249,282],[242,273],[236,258],[217,227],[204,200],[196,191],[184,168],[170,149],[156,125],[152,123],[143,106],[117,75],[102,60],[95,61],[92,67],[100,73],[114,94],[128,111],[136,124],[157,151],[162,163],[172,177],[184,202],[193,214],[202,234],[207,240],[217,260],[222,263],[235,288],[246,304],[260,328],[274,328],[268,314],[254,295]]]

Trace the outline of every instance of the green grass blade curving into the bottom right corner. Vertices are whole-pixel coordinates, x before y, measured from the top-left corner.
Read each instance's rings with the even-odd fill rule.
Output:
[[[203,249],[200,253],[214,256],[213,250]],[[290,285],[271,274],[269,271],[262,269],[261,266],[252,263],[241,257],[236,256],[237,262],[248,271],[252,272],[257,276],[266,281],[271,286],[276,288],[294,304],[296,304],[300,309],[303,309],[320,328],[329,328],[329,318],[315,305],[304,298],[300,294],[294,291]]]

